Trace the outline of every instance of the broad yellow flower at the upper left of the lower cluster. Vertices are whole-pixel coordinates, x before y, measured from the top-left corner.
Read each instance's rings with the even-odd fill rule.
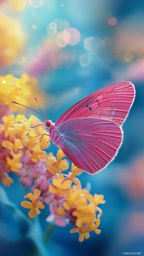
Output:
[[[52,179],[52,185],[49,185],[49,191],[52,194],[62,196],[71,187],[71,180],[64,180],[64,176],[60,174]]]

